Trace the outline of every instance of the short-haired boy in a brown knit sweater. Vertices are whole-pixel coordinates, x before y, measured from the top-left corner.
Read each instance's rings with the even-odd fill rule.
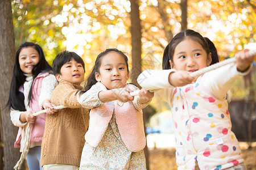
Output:
[[[89,122],[89,110],[76,100],[84,81],[84,61],[76,53],[64,51],[57,54],[52,66],[59,85],[51,102],[67,108],[46,116],[41,165],[47,170],[78,169]]]

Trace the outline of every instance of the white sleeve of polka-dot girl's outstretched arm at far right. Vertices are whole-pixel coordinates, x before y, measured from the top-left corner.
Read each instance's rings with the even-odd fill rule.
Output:
[[[234,85],[237,78],[242,75],[246,75],[250,72],[250,68],[241,73],[237,70],[236,63],[230,63],[222,66],[216,70],[205,73],[201,82],[204,82],[204,86],[212,93],[213,96],[218,99],[225,99],[228,90]]]

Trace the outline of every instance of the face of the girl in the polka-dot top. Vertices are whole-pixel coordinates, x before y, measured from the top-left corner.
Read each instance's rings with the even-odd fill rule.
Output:
[[[207,67],[212,62],[212,56],[203,49],[199,42],[189,38],[181,41],[175,48],[171,68],[177,71],[196,71]]]

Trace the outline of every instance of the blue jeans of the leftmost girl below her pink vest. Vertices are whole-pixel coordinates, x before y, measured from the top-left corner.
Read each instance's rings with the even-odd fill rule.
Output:
[[[35,146],[30,148],[27,153],[27,166],[30,170],[42,170],[40,165],[40,157],[41,157],[41,146]]]

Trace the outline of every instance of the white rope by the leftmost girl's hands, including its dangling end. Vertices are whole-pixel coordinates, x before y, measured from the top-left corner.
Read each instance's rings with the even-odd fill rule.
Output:
[[[53,107],[53,108],[55,110],[59,110],[59,109],[67,108],[67,107],[65,107],[64,105],[58,105],[58,106]],[[33,116],[39,116],[40,114],[43,114],[43,113],[46,113],[46,109],[33,113]],[[22,163],[25,160],[28,151],[30,150],[30,131],[31,131],[32,125],[33,124],[28,123],[27,125],[25,125],[22,128],[22,133],[25,133],[24,147],[22,148],[22,154],[20,155],[20,158],[19,158],[18,162],[14,166],[15,170],[21,169]]]

